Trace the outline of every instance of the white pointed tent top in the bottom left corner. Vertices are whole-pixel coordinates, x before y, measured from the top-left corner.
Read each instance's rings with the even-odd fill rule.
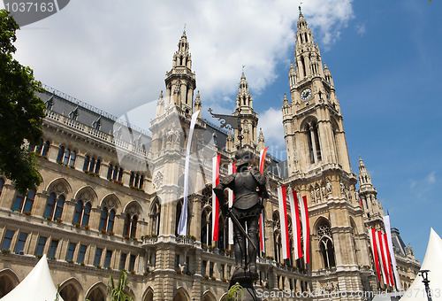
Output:
[[[46,254],[34,266],[31,273],[19,283],[15,289],[12,289],[2,301],[54,301],[57,295],[57,288],[50,276],[50,266]],[[63,301],[62,297],[58,297]]]

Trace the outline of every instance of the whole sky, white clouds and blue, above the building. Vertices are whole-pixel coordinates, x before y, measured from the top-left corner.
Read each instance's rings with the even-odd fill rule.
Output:
[[[155,104],[186,23],[205,116],[209,106],[232,112],[246,65],[266,143],[284,157],[278,116],[289,91],[298,4],[71,1],[20,30],[16,58],[43,83],[120,116]],[[422,260],[430,228],[442,235],[442,5],[309,0],[302,7],[333,75],[353,171],[361,153],[392,227]]]

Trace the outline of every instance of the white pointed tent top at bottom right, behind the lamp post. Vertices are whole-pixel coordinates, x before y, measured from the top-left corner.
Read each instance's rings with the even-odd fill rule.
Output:
[[[430,239],[423,259],[421,270],[430,270],[428,280],[432,291],[433,300],[442,300],[442,239],[436,231],[431,228]],[[416,276],[415,281],[407,289],[400,301],[428,301],[423,285],[423,278]]]

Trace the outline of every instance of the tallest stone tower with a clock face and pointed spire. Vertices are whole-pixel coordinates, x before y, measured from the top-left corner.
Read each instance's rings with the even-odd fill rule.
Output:
[[[312,289],[376,289],[373,274],[361,269],[372,265],[370,238],[356,199],[357,178],[350,166],[339,101],[301,7],[297,29],[289,70],[290,101],[285,96],[282,103],[285,183],[308,198],[307,269]]]

